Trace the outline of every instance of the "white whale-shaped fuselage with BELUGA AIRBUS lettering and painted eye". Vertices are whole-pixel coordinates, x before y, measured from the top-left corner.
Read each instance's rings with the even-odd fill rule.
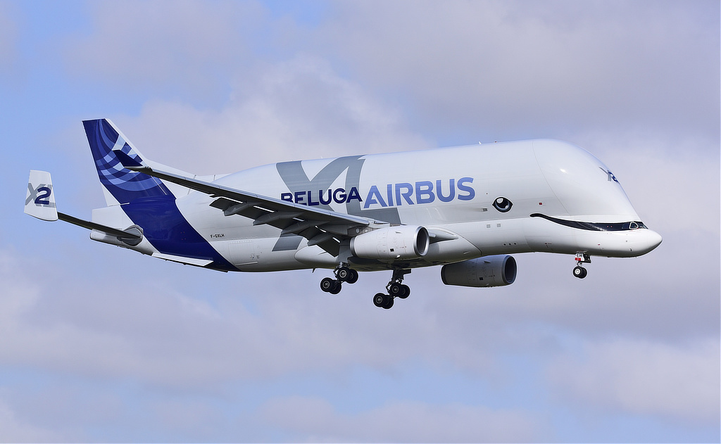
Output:
[[[617,227],[640,218],[601,161],[561,141],[283,162],[213,183],[379,222],[424,226],[441,241],[433,241],[428,254],[408,267],[521,252],[634,257],[660,243],[660,236],[642,224],[614,231],[572,226]],[[338,263],[319,247],[308,247],[301,236],[281,236],[279,228],[224,216],[209,206],[213,197],[183,190],[185,195],[174,190],[182,216],[238,270],[333,268]],[[133,248],[154,252],[146,239]],[[358,270],[388,267],[383,261],[355,265]]]

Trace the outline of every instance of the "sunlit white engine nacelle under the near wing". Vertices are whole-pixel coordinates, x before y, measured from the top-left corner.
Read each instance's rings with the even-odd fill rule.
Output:
[[[425,227],[399,225],[355,236],[350,252],[366,259],[417,259],[428,253],[429,245]]]

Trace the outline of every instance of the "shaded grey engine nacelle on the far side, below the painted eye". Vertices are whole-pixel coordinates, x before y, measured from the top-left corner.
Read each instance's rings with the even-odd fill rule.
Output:
[[[500,287],[516,280],[516,259],[513,256],[477,257],[464,262],[443,265],[441,280],[446,285],[464,287]]]

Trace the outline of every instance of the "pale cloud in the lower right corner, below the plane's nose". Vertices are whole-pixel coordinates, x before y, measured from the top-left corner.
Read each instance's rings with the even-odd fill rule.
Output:
[[[583,352],[549,365],[559,396],[601,409],[660,415],[677,422],[718,422],[720,344],[684,346],[617,339],[590,342]]]

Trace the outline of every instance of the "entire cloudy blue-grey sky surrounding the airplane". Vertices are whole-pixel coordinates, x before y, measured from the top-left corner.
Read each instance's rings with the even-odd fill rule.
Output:
[[[0,441],[719,442],[717,1],[0,0]],[[81,125],[195,174],[557,138],[607,164],[650,254],[221,273],[22,213],[105,205]],[[402,166],[399,166],[402,168]]]

